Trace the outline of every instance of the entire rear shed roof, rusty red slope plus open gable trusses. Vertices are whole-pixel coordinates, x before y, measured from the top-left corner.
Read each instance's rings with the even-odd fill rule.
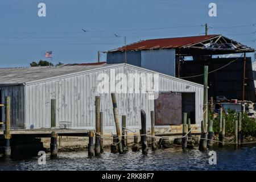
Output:
[[[183,56],[254,52],[253,48],[247,47],[222,35],[142,40],[110,50],[109,52],[141,51],[150,49],[176,49],[176,53]]]

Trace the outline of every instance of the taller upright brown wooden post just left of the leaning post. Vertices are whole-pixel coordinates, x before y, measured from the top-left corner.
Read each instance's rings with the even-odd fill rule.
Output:
[[[95,97],[95,144],[94,144],[94,155],[101,154],[101,143],[100,143],[100,96]]]

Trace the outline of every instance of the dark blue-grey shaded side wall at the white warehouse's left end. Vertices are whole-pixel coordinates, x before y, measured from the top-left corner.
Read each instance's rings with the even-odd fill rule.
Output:
[[[11,129],[24,129],[24,86],[1,86],[2,103],[6,103],[6,97],[11,97]],[[2,109],[1,121],[5,121],[5,107]]]

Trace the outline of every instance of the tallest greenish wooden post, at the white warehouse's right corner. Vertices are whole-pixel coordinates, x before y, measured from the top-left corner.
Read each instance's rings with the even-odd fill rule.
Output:
[[[208,123],[208,66],[204,66],[204,105],[203,105],[203,127],[201,127],[201,138],[199,144],[199,150],[207,150],[207,123]]]

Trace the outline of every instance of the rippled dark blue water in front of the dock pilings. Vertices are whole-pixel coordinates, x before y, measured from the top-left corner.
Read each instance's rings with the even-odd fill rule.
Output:
[[[213,148],[217,164],[210,165],[209,151],[183,151],[181,148],[151,150],[147,156],[129,151],[126,155],[105,151],[100,157],[88,158],[87,151],[60,152],[57,159],[47,155],[45,165],[38,158],[13,160],[0,159],[1,170],[256,170],[256,147],[234,150]]]

